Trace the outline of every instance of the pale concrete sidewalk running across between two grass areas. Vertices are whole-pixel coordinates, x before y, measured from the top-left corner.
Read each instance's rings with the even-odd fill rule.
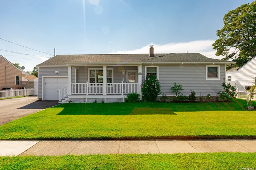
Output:
[[[0,156],[256,152],[256,140],[0,141]]]

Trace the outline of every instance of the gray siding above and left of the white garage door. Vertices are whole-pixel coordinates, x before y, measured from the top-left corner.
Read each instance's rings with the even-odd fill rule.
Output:
[[[38,69],[38,98],[42,98],[42,76],[68,75],[68,67],[39,67]],[[59,71],[59,74],[55,74],[54,71]]]

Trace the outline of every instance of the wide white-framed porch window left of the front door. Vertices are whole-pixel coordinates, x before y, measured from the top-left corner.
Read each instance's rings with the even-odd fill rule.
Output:
[[[89,83],[103,83],[103,69],[89,68]],[[107,68],[107,83],[113,83],[113,68]]]

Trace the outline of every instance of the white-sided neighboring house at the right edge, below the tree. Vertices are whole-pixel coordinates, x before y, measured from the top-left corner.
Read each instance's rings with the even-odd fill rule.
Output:
[[[241,67],[226,71],[226,80],[236,84],[239,90],[246,90],[256,79],[256,56]]]

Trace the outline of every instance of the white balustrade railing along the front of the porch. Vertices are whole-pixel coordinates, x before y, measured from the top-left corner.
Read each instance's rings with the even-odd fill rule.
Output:
[[[103,83],[71,83],[72,94],[103,94]],[[106,94],[139,93],[139,83],[106,83]]]

